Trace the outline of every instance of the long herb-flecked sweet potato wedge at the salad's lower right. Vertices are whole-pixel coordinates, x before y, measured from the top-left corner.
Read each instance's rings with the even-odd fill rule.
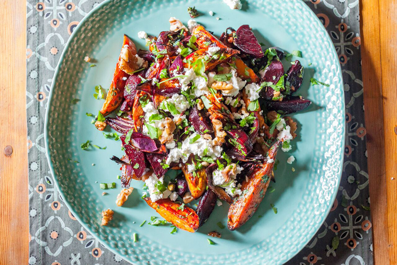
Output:
[[[270,159],[275,160],[281,143],[282,141],[277,141],[267,152]],[[248,181],[244,180],[242,183],[243,194],[230,205],[227,222],[227,227],[230,230],[236,230],[245,224],[258,209],[269,185],[273,166],[274,161],[272,163],[265,161],[262,165],[253,166],[255,168],[248,176]]]

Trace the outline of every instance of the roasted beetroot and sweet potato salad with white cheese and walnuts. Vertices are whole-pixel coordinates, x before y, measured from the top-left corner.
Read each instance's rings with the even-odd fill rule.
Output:
[[[304,69],[291,58],[301,53],[263,48],[249,25],[217,38],[193,19],[188,27],[169,22],[157,37],[138,33],[147,50],[124,36],[95,122],[121,134],[124,156],[111,158],[121,165],[117,205],[132,179],[144,181],[142,198],[175,227],[195,232],[215,204],[227,203],[227,227],[235,230],[264,198],[278,149],[291,149],[297,124],[285,115],[311,104],[294,95]],[[197,209],[187,205],[194,203]],[[113,211],[102,215],[107,225]]]

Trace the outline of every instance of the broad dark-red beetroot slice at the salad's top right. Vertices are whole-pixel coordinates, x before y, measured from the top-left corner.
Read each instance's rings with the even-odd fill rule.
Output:
[[[255,58],[262,58],[264,52],[249,25],[242,25],[236,31],[234,45],[243,53]]]

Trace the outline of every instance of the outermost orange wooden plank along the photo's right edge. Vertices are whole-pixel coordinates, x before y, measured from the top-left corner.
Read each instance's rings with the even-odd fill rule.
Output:
[[[390,264],[397,264],[397,4],[379,0]]]

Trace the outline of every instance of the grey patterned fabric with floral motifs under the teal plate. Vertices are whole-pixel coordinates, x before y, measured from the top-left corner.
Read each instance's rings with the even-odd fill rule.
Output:
[[[219,0],[220,1],[220,0]],[[304,0],[327,28],[343,70],[346,142],[343,176],[331,213],[288,264],[373,264],[366,131],[361,81],[359,0]],[[102,0],[27,0],[29,264],[128,264],[88,234],[53,184],[44,118],[54,70],[78,22]]]

